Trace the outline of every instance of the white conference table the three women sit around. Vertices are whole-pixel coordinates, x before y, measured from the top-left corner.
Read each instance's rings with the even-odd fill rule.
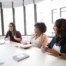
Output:
[[[39,48],[20,49],[14,47],[15,44],[17,43],[6,42],[0,45],[0,62],[4,62],[2,66],[66,66],[66,60],[42,53]],[[30,57],[19,62],[15,61],[13,56],[21,53],[26,53]]]

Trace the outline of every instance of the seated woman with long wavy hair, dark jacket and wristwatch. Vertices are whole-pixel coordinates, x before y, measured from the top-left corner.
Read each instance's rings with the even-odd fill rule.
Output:
[[[58,19],[54,25],[55,37],[47,45],[42,46],[42,52],[45,50],[53,56],[66,59],[66,19]]]

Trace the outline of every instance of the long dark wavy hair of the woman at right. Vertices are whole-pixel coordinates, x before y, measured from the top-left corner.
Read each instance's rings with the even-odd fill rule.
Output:
[[[66,19],[58,19],[55,22],[57,27],[56,43],[63,45],[66,43]]]

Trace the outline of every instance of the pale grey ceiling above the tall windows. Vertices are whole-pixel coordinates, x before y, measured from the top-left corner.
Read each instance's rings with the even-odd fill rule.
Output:
[[[35,3],[38,3],[43,0],[35,0]],[[2,8],[11,8],[12,2],[14,4],[14,7],[22,6],[23,0],[0,0],[2,2]],[[24,5],[32,4],[33,0],[24,0]]]

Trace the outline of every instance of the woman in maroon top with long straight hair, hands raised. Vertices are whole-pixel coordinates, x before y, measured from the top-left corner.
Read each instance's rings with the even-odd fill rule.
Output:
[[[9,24],[9,31],[6,33],[5,40],[10,40],[18,43],[21,42],[21,33],[16,30],[14,23]]]

